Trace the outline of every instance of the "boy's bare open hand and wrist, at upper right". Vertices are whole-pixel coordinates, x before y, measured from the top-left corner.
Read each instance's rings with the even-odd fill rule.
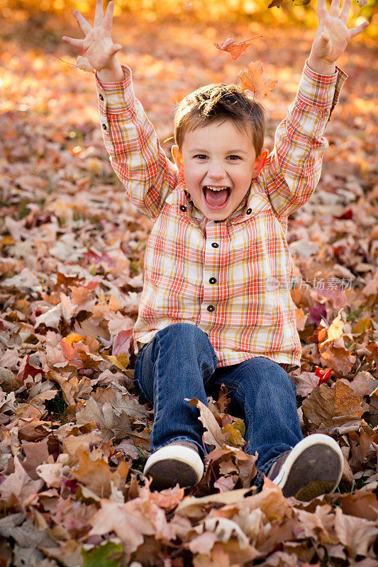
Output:
[[[318,0],[319,27],[308,58],[309,67],[316,73],[333,74],[335,62],[343,54],[350,40],[369,26],[369,22],[365,21],[360,26],[348,30],[350,1],[345,0],[339,13],[340,0],[332,0],[328,13],[326,0]]]

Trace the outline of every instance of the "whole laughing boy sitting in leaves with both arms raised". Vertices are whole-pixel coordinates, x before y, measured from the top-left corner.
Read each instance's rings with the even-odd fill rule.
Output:
[[[134,329],[134,381],[154,406],[152,488],[194,486],[204,472],[204,429],[187,398],[207,403],[222,383],[231,415],[245,419],[247,451],[287,496],[310,500],[335,490],[343,455],[329,436],[301,434],[296,390],[285,371],[299,365],[289,286],[287,217],[310,198],[328,142],[323,137],[345,78],[335,67],[348,41],[350,0],[339,13],[318,0],[319,27],[274,150],[263,150],[264,113],[237,86],[214,84],[187,96],[174,118],[175,164],[135,99],[131,72],[113,45],[114,2],[94,27],[75,10],[81,47],[96,69],[106,150],[128,198],[155,221]],[[262,476],[256,478],[258,488]]]

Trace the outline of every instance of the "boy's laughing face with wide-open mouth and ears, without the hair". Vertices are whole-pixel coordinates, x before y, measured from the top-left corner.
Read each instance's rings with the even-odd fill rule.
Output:
[[[209,220],[224,220],[243,201],[267,150],[256,157],[252,135],[226,120],[185,133],[172,155],[196,207]]]

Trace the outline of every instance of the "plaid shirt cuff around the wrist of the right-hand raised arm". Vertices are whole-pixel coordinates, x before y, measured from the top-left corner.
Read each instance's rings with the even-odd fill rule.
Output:
[[[307,60],[302,73],[298,98],[308,106],[316,106],[332,113],[347,78],[348,75],[337,66],[332,75],[318,74],[308,67]]]

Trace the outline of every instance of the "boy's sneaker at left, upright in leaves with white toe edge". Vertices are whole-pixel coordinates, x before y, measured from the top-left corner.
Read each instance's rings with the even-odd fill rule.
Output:
[[[172,488],[177,483],[192,488],[201,481],[204,464],[196,444],[173,442],[148,457],[143,474],[152,476],[152,490]]]

